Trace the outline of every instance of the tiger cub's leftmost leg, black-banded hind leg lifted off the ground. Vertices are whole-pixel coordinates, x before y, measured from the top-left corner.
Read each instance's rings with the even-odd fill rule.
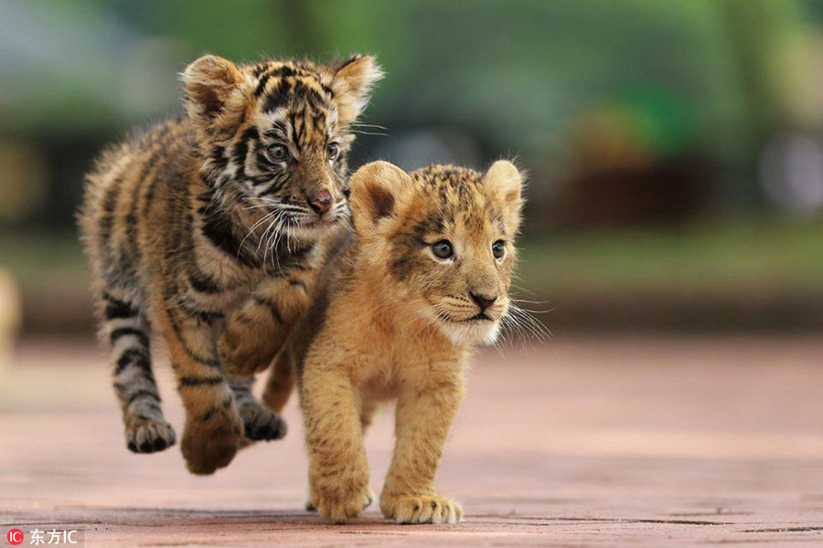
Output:
[[[110,345],[114,391],[120,400],[126,447],[155,453],[175,445],[175,431],[160,408],[149,353],[150,328],[129,300],[103,293],[103,332]]]

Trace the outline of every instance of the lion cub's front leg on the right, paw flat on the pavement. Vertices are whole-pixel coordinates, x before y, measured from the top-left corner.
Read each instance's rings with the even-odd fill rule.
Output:
[[[383,515],[398,523],[457,523],[463,509],[438,495],[434,476],[463,394],[459,377],[404,387],[397,401],[397,443],[380,494]]]

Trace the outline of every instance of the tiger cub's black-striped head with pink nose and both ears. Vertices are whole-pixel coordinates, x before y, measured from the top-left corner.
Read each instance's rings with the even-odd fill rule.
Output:
[[[201,173],[224,205],[265,217],[261,226],[322,235],[347,216],[351,125],[381,77],[369,56],[330,65],[198,58],[183,82]]]

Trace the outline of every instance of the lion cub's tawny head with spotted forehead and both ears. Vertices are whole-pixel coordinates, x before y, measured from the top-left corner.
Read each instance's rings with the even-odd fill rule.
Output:
[[[369,163],[351,180],[358,264],[455,344],[494,342],[508,312],[521,187],[503,160],[485,174]]]

